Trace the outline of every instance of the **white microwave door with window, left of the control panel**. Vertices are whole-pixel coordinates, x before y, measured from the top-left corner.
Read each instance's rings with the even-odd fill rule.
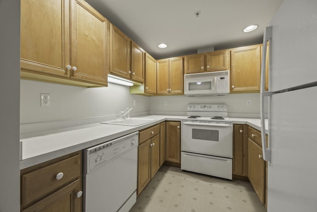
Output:
[[[186,94],[212,94],[215,90],[215,77],[186,80]]]

